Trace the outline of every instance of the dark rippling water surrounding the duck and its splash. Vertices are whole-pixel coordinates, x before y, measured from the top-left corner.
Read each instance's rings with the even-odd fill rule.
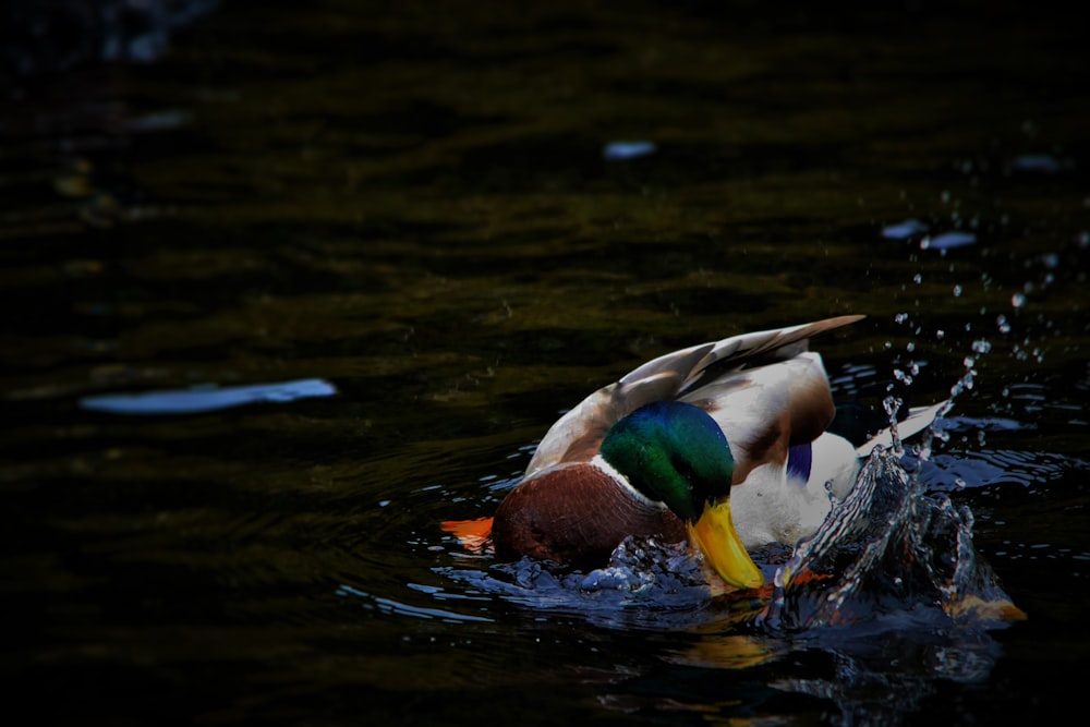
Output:
[[[1080,707],[1077,15],[196,4],[157,58],[3,76],[16,705],[110,725]],[[919,480],[971,511],[1025,621],[906,606],[777,637],[691,584],[573,591],[440,531],[489,516],[548,425],[642,361],[846,313],[869,318],[816,346],[839,395],[954,390]]]

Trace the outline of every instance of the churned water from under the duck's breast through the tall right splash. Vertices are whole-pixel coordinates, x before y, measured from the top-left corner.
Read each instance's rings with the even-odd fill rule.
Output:
[[[891,411],[897,401],[891,397]],[[874,628],[909,618],[927,629],[992,628],[1024,618],[972,544],[973,518],[917,476],[931,456],[930,431],[905,452],[877,447],[855,488],[794,553],[754,553],[772,585],[719,594],[685,544],[629,537],[603,568],[550,568],[523,558],[486,572],[437,571],[534,611],[579,616],[613,628],[691,628],[718,622],[765,635]],[[713,579],[714,581],[714,579]],[[904,625],[901,625],[904,628]]]

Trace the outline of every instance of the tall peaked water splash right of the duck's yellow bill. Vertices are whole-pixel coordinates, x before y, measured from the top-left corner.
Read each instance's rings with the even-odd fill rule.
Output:
[[[1025,616],[972,545],[972,513],[931,497],[889,450],[777,569],[759,619],[795,633],[915,611],[933,625],[989,628]]]

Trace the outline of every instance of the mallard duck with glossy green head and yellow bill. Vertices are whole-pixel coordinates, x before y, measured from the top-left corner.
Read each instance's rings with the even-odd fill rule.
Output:
[[[447,530],[489,534],[496,557],[604,566],[629,535],[688,540],[735,589],[758,587],[748,550],[812,534],[829,492],[851,489],[861,446],[829,431],[828,376],[809,340],[851,315],[732,336],[650,361],[584,399],[537,446],[491,522]],[[925,427],[942,404],[898,429]]]

